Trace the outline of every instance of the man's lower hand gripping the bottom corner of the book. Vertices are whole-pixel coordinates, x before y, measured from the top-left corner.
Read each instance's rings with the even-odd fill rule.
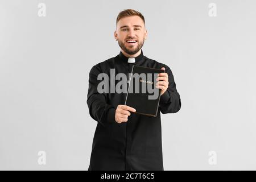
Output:
[[[115,121],[118,123],[127,122],[128,116],[131,115],[129,111],[135,112],[136,110],[133,107],[126,105],[118,105],[115,110]]]

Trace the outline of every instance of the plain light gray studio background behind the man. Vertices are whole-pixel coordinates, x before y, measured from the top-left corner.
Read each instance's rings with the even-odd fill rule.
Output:
[[[143,53],[172,69],[181,96],[178,113],[162,114],[164,169],[256,169],[255,5],[1,0],[0,169],[88,169],[97,124],[86,105],[89,71],[119,53],[123,9],[144,15]]]

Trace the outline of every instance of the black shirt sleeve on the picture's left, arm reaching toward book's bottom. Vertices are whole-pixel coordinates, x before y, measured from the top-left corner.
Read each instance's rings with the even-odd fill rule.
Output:
[[[102,81],[97,80],[100,73],[102,73],[101,69],[96,65],[90,70],[87,105],[90,116],[104,125],[105,123],[115,122],[115,107],[107,103],[108,93],[98,93],[97,87]]]

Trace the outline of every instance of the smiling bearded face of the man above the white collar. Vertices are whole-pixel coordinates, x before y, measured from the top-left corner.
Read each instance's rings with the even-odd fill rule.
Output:
[[[142,48],[144,39],[147,38],[147,30],[139,16],[129,16],[117,22],[114,36],[123,51],[134,55]]]

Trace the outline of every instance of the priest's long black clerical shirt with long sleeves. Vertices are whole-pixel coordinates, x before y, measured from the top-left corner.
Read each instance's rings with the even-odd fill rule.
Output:
[[[127,60],[128,57],[120,51],[119,55],[94,65],[90,70],[87,104],[90,116],[98,123],[89,170],[163,170],[160,111],[162,114],[176,113],[181,107],[174,76],[167,65],[148,59],[142,51],[135,57],[135,63],[127,63]],[[129,79],[133,64],[158,69],[164,67],[169,86],[160,97],[156,117],[131,113],[127,122],[117,123],[115,109],[125,104],[126,93],[98,93],[97,86],[102,80],[97,80],[97,76],[106,73],[110,78],[110,69],[115,69],[115,75],[125,73]]]

